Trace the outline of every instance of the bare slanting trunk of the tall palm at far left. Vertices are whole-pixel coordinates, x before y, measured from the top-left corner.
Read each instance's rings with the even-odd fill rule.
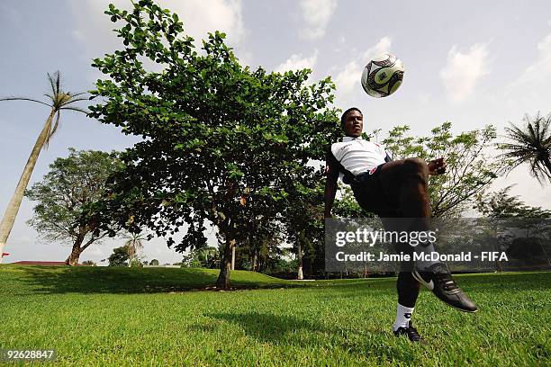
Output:
[[[50,116],[48,116],[48,120],[46,120],[46,123],[44,124],[44,128],[42,128],[41,135],[39,135],[38,139],[36,139],[36,142],[34,143],[31,156],[27,160],[27,164],[23,169],[23,174],[21,175],[19,183],[17,183],[17,187],[15,188],[14,196],[12,196],[12,200],[9,202],[5,210],[2,222],[0,222],[0,263],[2,263],[3,256],[1,254],[4,252],[5,243],[10,236],[12,228],[14,228],[15,217],[19,212],[21,201],[23,201],[25,189],[27,188],[27,185],[31,180],[32,170],[34,169],[36,161],[41,154],[41,149],[44,147],[46,139],[48,139],[48,136],[50,134],[51,121],[53,120],[55,114],[56,110],[52,109],[50,112]]]

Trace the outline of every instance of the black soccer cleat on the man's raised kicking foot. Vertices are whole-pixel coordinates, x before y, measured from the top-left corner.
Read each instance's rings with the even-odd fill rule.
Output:
[[[457,287],[447,270],[446,264],[437,263],[429,266],[427,271],[413,269],[413,277],[418,282],[432,291],[435,296],[447,305],[465,312],[476,312],[478,309],[474,302]]]

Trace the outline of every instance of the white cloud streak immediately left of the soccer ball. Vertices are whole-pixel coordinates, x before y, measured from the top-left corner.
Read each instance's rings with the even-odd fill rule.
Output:
[[[351,94],[354,92],[354,86],[360,85],[362,72],[366,67],[367,62],[377,55],[390,51],[392,40],[390,37],[384,37],[379,40],[373,47],[366,49],[361,57],[353,58],[335,77],[337,92],[339,94]]]

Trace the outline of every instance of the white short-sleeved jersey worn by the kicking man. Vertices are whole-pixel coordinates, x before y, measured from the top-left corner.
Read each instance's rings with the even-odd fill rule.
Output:
[[[344,137],[331,145],[331,153],[352,175],[359,175],[385,162],[387,156],[383,145],[360,137]]]

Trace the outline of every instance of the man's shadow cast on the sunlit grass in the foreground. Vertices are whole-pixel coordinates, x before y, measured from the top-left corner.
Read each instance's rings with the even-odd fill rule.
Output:
[[[388,351],[384,345],[391,333],[381,330],[361,331],[336,325],[324,325],[320,318],[308,319],[290,315],[274,315],[249,312],[210,313],[205,316],[235,324],[243,329],[247,336],[261,343],[274,345],[300,345],[303,348],[321,347],[330,350],[340,347],[348,354],[370,355],[386,360]]]

